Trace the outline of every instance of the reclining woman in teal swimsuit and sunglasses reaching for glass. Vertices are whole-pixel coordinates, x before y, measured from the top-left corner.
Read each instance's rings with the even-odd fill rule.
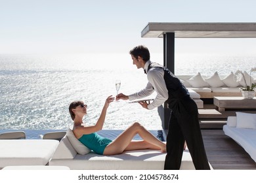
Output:
[[[83,116],[87,114],[87,105],[82,101],[74,101],[70,104],[70,116],[74,121],[73,132],[75,137],[85,146],[93,150],[96,154],[115,155],[121,154],[127,150],[154,149],[166,152],[166,146],[158,140],[154,135],[147,131],[138,122],[125,129],[114,141],[101,137],[96,133],[103,127],[106,111],[114,101],[114,97],[110,95],[102,108],[100,118],[95,125],[87,126],[83,123]],[[143,141],[132,141],[135,135],[139,134]]]

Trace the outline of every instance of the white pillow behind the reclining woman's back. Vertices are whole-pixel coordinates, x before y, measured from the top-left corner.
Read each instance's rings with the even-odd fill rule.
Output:
[[[84,144],[82,144],[80,141],[77,140],[72,129],[68,128],[66,135],[68,137],[68,140],[70,141],[70,143],[72,144],[72,146],[74,147],[75,151],[78,154],[85,155],[91,152],[91,150],[87,148],[87,146],[85,146]]]

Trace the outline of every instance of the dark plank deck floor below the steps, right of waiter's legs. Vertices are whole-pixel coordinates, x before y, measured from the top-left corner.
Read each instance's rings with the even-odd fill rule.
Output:
[[[213,169],[256,169],[256,163],[222,129],[202,129],[203,142]]]

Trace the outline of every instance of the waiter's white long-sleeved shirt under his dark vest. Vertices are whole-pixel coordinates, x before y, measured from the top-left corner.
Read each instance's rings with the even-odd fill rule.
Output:
[[[150,65],[150,63],[152,63],[150,60],[145,63],[144,71],[147,72],[148,65]],[[148,84],[146,84],[146,87],[140,90],[140,92],[129,95],[129,100],[133,101],[135,99],[142,99],[156,91],[156,98],[148,105],[148,109],[152,110],[153,108],[159,107],[168,99],[169,96],[163,75],[164,71],[159,67],[153,67],[150,69],[150,71],[147,73]]]

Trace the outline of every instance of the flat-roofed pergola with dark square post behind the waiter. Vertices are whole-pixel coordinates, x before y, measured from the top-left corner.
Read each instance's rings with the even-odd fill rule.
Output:
[[[142,30],[141,37],[163,39],[163,65],[175,74],[175,38],[256,38],[256,23],[150,22]],[[163,110],[159,108],[159,112],[163,129],[167,129],[167,105],[164,105]]]

